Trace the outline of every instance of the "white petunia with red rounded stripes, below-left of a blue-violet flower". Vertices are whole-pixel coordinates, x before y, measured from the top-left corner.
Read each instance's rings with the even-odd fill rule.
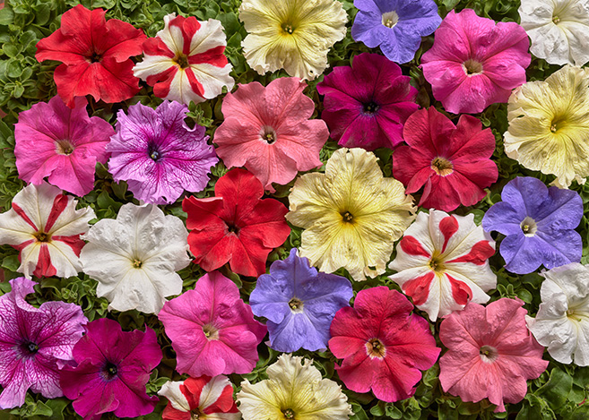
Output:
[[[396,251],[389,268],[398,272],[390,279],[431,321],[463,310],[470,301],[486,303],[486,292],[497,285],[488,261],[495,253],[495,241],[474,224],[473,214],[421,212]]]

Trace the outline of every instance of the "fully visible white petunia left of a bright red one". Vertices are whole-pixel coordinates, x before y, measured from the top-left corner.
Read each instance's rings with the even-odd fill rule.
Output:
[[[157,206],[127,203],[117,219],[101,219],[83,236],[83,271],[99,282],[109,309],[158,313],[166,296],[182,292],[176,271],[189,263],[182,220]]]

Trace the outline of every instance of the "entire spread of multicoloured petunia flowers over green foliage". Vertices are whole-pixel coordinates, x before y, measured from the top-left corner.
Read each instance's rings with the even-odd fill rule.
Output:
[[[18,250],[24,276],[0,296],[0,407],[22,405],[27,390],[65,395],[87,419],[143,416],[159,401],[145,388],[161,359],[153,330],[88,322],[76,304],[26,302],[32,276],[80,272],[98,281],[97,296],[110,309],[157,314],[163,324],[176,370],[188,376],[159,391],[169,399],[165,419],[347,418],[341,386],[322,379],[309,359],[288,354],[300,348],[328,348],[349,390],[407,399],[442,352],[414,307],[430,321],[443,318],[439,380],[464,401],[489,399],[504,411],[506,402],[523,399],[526,381],[548,365],[544,347],[561,363],[589,365],[589,267],[579,263],[575,231],[583,201],[566,189],[589,176],[589,70],[579,66],[589,61],[589,39],[567,24],[589,25],[586,2],[523,0],[520,26],[470,9],[442,20],[433,0],[356,0],[352,37],[384,56],[359,54],[325,75],[317,84],[322,119],[311,119],[315,104],[304,80],[324,73],[348,17],[337,0],[291,3],[243,0],[247,63],[260,74],[284,69],[291,77],[233,92],[220,21],[172,13],[147,39],[129,23],[107,21],[101,9],[77,5],[39,41],[39,61],[63,64],[54,75],[58,95],[22,112],[15,125],[16,166],[29,184],[0,214],[0,244]],[[478,203],[498,180],[490,159],[495,136],[474,116],[454,124],[435,107],[419,109],[417,90],[395,64],[411,61],[421,37],[432,33],[420,64],[434,98],[453,114],[507,102],[507,156],[556,176],[550,188],[534,177],[511,180],[481,226],[472,214],[448,212]],[[528,37],[533,54],[566,64],[546,81],[526,82]],[[142,61],[132,59],[140,54]],[[140,79],[164,99],[159,107],[119,110],[116,128],[89,116],[87,95],[131,99]],[[223,89],[229,93],[214,148],[204,127],[186,123],[186,105]],[[323,165],[319,152],[330,136],[342,148],[325,170],[299,176]],[[373,153],[383,147],[393,150],[393,177],[383,176]],[[204,191],[220,159],[230,170],[214,196],[183,199],[186,226],[158,207]],[[90,193],[97,162],[108,162],[114,180],[125,181],[140,203],[91,225],[94,211],[76,209],[64,192]],[[289,208],[263,198],[273,184],[293,180]],[[423,211],[411,193],[420,193]],[[290,236],[287,221],[303,229],[299,249],[266,272],[268,255]],[[497,286],[491,231],[505,236],[499,253],[506,270],[548,269],[535,318],[519,299],[487,304]],[[182,293],[177,271],[190,261],[208,273]],[[226,264],[257,279],[249,304],[217,271]],[[351,281],[333,271],[363,281],[384,274],[387,264],[411,301],[380,286],[359,291],[350,306]],[[237,406],[225,375],[252,372],[266,334],[269,347],[285,354],[267,368],[267,379],[241,383]]]

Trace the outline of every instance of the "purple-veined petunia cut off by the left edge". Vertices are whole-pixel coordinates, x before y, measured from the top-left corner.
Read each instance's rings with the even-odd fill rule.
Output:
[[[35,284],[12,279],[12,290],[0,296],[1,409],[22,406],[29,389],[48,399],[64,395],[59,369],[74,359],[72,349],[88,321],[76,304],[28,304]]]

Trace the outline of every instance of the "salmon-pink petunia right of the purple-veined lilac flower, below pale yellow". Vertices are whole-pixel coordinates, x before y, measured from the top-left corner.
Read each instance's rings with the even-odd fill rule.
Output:
[[[266,191],[288,184],[298,171],[322,165],[319,150],[329,132],[323,120],[309,120],[313,100],[296,77],[275,79],[264,88],[257,81],[239,85],[223,99],[225,121],[217,129],[217,155],[226,167],[243,167]]]

